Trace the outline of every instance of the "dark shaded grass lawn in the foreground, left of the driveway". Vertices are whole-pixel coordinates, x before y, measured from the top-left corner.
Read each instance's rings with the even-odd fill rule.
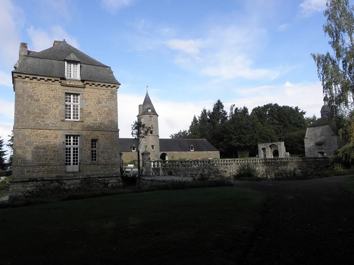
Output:
[[[235,264],[265,196],[239,187],[0,210],[0,264]]]

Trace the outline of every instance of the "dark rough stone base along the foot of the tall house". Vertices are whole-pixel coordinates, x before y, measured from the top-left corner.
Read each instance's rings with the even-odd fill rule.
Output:
[[[29,178],[10,181],[10,197],[49,197],[71,190],[112,189],[122,186],[120,176]]]

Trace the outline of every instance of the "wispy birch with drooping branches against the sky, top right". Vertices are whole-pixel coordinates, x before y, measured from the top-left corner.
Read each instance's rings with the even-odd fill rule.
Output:
[[[333,53],[312,53],[323,92],[335,116],[353,110],[354,101],[354,7],[348,0],[327,0],[323,25]]]

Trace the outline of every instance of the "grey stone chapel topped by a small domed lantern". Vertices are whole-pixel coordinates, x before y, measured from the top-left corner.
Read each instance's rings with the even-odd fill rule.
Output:
[[[326,95],[323,98],[321,118],[311,123],[306,129],[304,139],[306,157],[329,157],[334,151],[346,144],[339,137],[337,128],[329,123],[330,113]]]

